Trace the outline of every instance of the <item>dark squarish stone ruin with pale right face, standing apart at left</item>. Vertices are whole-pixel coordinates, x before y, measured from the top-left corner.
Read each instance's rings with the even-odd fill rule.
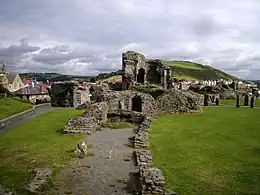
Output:
[[[90,101],[88,88],[70,82],[54,83],[50,96],[53,107],[78,107]]]

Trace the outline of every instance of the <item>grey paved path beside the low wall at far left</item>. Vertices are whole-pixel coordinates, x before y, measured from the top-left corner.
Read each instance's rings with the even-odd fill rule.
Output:
[[[36,118],[37,116],[40,116],[41,114],[44,114],[44,113],[46,113],[50,110],[54,110],[54,109],[56,109],[56,108],[54,108],[54,107],[39,107],[39,108],[36,108],[35,113],[33,113],[32,115],[29,115],[29,116],[23,118],[22,120],[14,122],[10,125],[7,125],[4,128],[0,128],[0,136],[7,133],[10,130],[12,130],[15,127],[18,127],[19,125],[26,123],[26,122]]]

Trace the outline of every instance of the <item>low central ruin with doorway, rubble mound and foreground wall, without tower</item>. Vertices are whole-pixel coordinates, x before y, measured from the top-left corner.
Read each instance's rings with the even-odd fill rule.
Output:
[[[126,121],[137,125],[134,129],[133,147],[139,167],[141,194],[165,194],[163,173],[152,164],[148,133],[152,116],[164,113],[192,113],[202,111],[201,97],[193,92],[169,90],[154,98],[137,91],[107,91],[102,101],[86,104],[87,111],[70,120],[64,127],[67,133],[91,134],[108,120]]]

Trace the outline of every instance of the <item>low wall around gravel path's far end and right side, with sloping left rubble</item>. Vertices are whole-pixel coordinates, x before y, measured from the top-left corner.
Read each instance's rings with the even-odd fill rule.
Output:
[[[148,148],[148,133],[151,127],[151,117],[136,111],[124,109],[108,110],[108,104],[99,102],[88,107],[86,113],[71,119],[64,127],[66,133],[92,133],[98,126],[111,121],[126,121],[138,125],[133,138],[133,147],[139,167],[141,190],[143,195],[163,195],[165,178],[157,167],[152,164],[152,154]]]

